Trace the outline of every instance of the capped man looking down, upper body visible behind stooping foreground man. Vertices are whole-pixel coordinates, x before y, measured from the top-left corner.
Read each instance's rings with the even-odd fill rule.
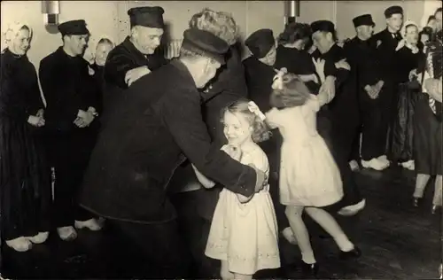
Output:
[[[158,48],[164,32],[163,13],[161,7],[128,10],[131,34],[109,53],[105,64],[106,82],[126,89],[167,63]]]

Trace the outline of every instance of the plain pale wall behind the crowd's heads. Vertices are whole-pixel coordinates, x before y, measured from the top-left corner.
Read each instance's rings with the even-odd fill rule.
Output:
[[[355,35],[352,19],[362,13],[371,13],[377,31],[385,27],[385,8],[400,4],[405,9],[405,19],[420,22],[424,17],[425,3],[433,10],[436,0],[405,1],[301,1],[299,22],[310,23],[329,19],[336,24],[340,39]],[[190,16],[205,7],[231,12],[243,37],[253,31],[268,27],[277,36],[284,28],[284,1],[59,1],[59,21],[85,19],[91,38],[86,58],[95,50],[97,40],[108,36],[120,43],[128,35],[128,14],[131,7],[160,5],[165,9],[165,19],[170,23],[172,39],[182,39]],[[32,48],[28,52],[31,62],[38,68],[40,60],[55,51],[61,44],[60,35],[49,34],[43,24],[41,1],[1,1],[1,27],[13,20],[25,21],[34,28]],[[2,49],[4,43],[2,41]]]

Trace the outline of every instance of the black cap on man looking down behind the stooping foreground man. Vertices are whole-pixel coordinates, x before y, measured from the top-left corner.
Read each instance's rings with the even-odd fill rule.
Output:
[[[131,27],[142,26],[152,28],[163,28],[165,22],[163,21],[162,7],[136,7],[128,10],[129,21]]]

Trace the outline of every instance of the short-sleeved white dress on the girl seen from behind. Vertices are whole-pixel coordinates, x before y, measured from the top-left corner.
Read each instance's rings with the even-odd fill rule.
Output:
[[[273,108],[267,120],[284,142],[280,162],[280,202],[286,206],[329,206],[343,197],[337,164],[316,129],[317,97],[283,110]]]

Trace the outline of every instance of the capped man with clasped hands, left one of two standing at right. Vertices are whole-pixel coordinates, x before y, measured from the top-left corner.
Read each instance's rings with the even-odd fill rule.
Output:
[[[344,49],[360,101],[361,160],[366,162],[364,167],[383,170],[388,165],[377,157],[384,153],[386,140],[386,120],[380,103],[380,95],[385,94],[385,82],[376,46],[370,39],[375,23],[370,14],[358,16],[353,22],[357,35],[345,44]]]

